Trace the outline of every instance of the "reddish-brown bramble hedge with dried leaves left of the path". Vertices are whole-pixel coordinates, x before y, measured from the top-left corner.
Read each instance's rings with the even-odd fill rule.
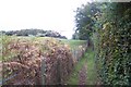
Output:
[[[3,79],[14,76],[3,84],[59,84],[73,67],[70,48],[59,40],[3,37]]]

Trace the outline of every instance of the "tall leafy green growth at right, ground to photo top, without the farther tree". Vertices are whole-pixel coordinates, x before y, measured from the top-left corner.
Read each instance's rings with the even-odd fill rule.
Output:
[[[105,4],[104,4],[105,5]],[[131,3],[106,3],[103,7],[97,42],[97,62],[104,84],[130,85]],[[108,12],[108,13],[106,13]]]

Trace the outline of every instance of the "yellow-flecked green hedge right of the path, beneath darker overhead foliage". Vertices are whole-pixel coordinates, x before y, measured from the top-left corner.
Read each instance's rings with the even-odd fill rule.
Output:
[[[128,12],[131,13],[131,10]],[[96,62],[104,84],[131,85],[130,20],[129,15],[124,15],[117,25],[107,22],[98,30]]]

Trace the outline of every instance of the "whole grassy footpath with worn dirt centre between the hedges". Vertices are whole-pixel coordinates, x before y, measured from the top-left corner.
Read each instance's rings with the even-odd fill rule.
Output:
[[[68,85],[98,85],[95,69],[94,52],[88,49],[85,55],[78,62],[73,73],[67,82]]]

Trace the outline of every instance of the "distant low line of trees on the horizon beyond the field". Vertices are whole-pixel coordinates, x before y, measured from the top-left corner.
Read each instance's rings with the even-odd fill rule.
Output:
[[[1,32],[8,36],[38,36],[38,37],[55,37],[55,38],[63,38],[67,39],[66,36],[61,36],[59,33],[53,30],[43,30],[43,29],[21,29],[21,30],[9,30],[9,32]]]

